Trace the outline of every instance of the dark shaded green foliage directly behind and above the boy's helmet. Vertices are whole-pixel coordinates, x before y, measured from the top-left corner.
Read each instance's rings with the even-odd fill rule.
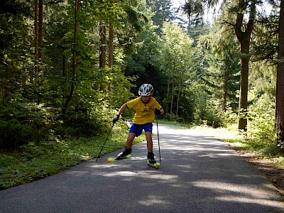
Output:
[[[125,75],[135,77],[136,87],[131,92],[136,96],[138,87],[144,83],[153,84],[154,96],[161,102],[164,96],[165,76],[160,70],[161,40],[155,33],[155,26],[149,21],[143,26],[143,32],[135,38],[136,50],[124,58]]]

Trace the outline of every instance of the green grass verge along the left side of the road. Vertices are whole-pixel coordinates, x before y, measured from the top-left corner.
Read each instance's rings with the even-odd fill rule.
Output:
[[[128,131],[116,125],[101,155],[123,148]],[[42,143],[28,143],[14,152],[0,152],[0,190],[45,178],[78,163],[97,157],[107,134],[92,138],[55,138]],[[134,143],[143,141],[142,136]]]

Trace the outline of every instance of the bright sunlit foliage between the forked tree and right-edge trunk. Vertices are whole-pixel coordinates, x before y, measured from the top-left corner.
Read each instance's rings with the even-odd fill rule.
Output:
[[[275,146],[275,67],[266,62],[254,62],[249,90],[249,140],[258,146]],[[273,151],[274,152],[274,151]]]

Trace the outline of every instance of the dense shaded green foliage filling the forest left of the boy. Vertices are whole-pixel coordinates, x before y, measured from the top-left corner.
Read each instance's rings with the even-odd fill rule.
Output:
[[[3,21],[0,38],[5,41],[0,54],[3,59],[0,126],[4,133],[1,148],[41,143],[46,138],[90,137],[104,133],[110,114],[133,97],[131,82],[136,77],[125,77],[124,62],[119,61],[124,55],[121,50],[124,42],[115,40],[117,65],[98,69],[97,21],[103,18],[108,23],[111,19],[117,29],[122,26],[133,29],[145,23],[146,18],[135,11],[136,1],[105,3],[80,1],[75,18],[75,1],[44,2],[38,73],[34,71],[34,50],[31,49],[34,20],[28,16],[33,5],[25,4],[29,10],[22,11],[17,4],[17,13],[4,8],[0,15]],[[125,16],[134,13],[136,17]],[[131,23],[129,18],[136,19]],[[133,31],[128,32],[130,35]]]

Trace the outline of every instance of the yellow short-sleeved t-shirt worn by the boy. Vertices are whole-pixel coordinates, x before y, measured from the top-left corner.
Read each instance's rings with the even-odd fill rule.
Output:
[[[162,109],[160,104],[153,97],[151,97],[147,104],[144,104],[141,97],[138,97],[127,102],[126,105],[129,109],[132,107],[135,108],[135,114],[133,116],[134,124],[153,123],[155,121],[155,109]]]

